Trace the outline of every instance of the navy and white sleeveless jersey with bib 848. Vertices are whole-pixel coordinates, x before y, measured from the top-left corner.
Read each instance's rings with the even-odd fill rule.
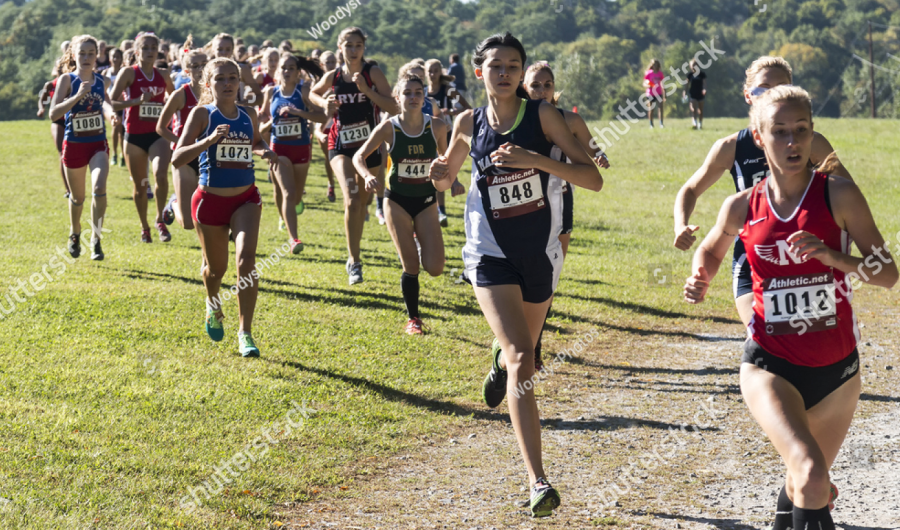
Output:
[[[506,134],[491,128],[487,107],[474,110],[464,256],[534,257],[559,249],[556,211],[562,201],[548,193],[550,175],[536,168],[501,169],[490,157],[507,142],[550,156],[553,144],[541,127],[541,103],[522,100],[516,124]]]

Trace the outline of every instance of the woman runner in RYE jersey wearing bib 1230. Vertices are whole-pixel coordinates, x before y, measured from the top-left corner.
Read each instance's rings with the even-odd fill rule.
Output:
[[[369,192],[365,179],[353,167],[352,157],[377,125],[379,109],[390,115],[399,112],[391,97],[391,85],[381,68],[363,58],[366,34],[357,27],[345,28],[338,35],[338,47],[347,61],[324,75],[310,92],[310,99],[320,108],[336,101],[337,113],[328,133],[328,158],[344,194],[344,229],[347,234],[347,275],[350,285],[363,281],[360,242],[366,218]],[[332,94],[326,97],[331,90]],[[369,168],[381,166],[381,153],[366,159]]]

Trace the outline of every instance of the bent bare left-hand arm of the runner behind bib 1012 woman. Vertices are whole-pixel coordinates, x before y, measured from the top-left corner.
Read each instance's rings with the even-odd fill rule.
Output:
[[[700,169],[695,171],[691,178],[684,183],[684,186],[678,190],[678,195],[675,196],[674,245],[676,248],[687,250],[694,244],[696,237],[692,234],[699,227],[691,226],[688,223],[691,214],[694,213],[697,199],[731,168],[734,163],[736,141],[737,135],[716,140]]]

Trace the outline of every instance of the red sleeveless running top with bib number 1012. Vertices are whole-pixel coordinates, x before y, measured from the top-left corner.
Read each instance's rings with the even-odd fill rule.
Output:
[[[787,219],[770,206],[768,179],[750,192],[741,232],[753,278],[753,318],[747,333],[769,353],[800,366],[827,366],[853,353],[859,340],[853,289],[838,269],[789,252],[787,238],[805,230],[829,248],[850,253],[850,236],[825,200],[828,176],[815,172]]]

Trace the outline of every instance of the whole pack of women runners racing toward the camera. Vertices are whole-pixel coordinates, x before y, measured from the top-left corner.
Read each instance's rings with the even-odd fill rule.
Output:
[[[157,65],[160,41],[153,34],[135,39],[131,66],[126,58],[107,76],[94,71],[98,42],[73,38],[50,96],[51,119],[64,118],[69,250],[80,253],[88,170],[99,234],[109,167],[104,118],[113,126],[122,120],[142,239],[150,241],[152,172],[160,238],[170,237],[165,227],[171,219],[196,229],[205,327],[216,341],[224,337],[219,291],[229,239],[234,241],[238,278],[246,282],[238,294],[239,347],[244,356],[258,356],[250,331],[262,201],[253,156],[269,166],[296,254],[302,250],[297,214],[315,136],[341,186],[350,284],[362,281],[367,205],[383,189],[378,210],[400,256],[406,331],[421,334],[418,275],[422,268],[441,274],[445,261],[440,194],[466,193],[465,278],[495,337],[483,398],[490,407],[508,398],[531,485],[531,512],[548,516],[561,501],[543,467],[533,385],[523,383],[541,369],[541,330],[572,230],[572,190],[599,191],[600,168],[609,162],[592,147],[580,116],[557,108],[551,66],[529,65],[524,46],[509,33],[485,39],[473,52],[487,101],[474,109],[453,93],[440,63],[413,60],[392,85],[365,59],[366,38],[360,28],[346,28],[338,53],[315,59],[283,43],[277,52],[263,49],[256,68],[252,57],[235,60],[230,35],[217,35],[205,48],[193,48],[188,39],[177,54],[178,87]],[[111,58],[107,72],[116,62]],[[809,95],[791,85],[791,76],[779,57],[760,57],[747,69],[743,97],[751,124],[717,141],[679,191],[674,245],[688,250],[696,242],[699,228],[689,224],[696,201],[730,171],[736,194],[697,249],[684,297],[704,300],[734,243],[735,303],[748,330],[741,391],[786,465],[775,529],[829,530],[837,496],[829,469],[860,393],[851,279],[889,288],[898,273],[865,198],[828,141],[814,132]],[[255,99],[244,103],[250,96]],[[309,122],[321,125],[311,129]],[[468,158],[466,191],[457,174]],[[166,200],[170,164],[175,193]],[[861,258],[850,255],[851,241]],[[102,259],[99,239],[92,245],[92,257]]]

